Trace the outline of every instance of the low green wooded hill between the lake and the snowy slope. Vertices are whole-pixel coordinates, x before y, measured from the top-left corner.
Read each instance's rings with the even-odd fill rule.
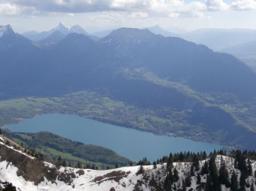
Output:
[[[119,156],[109,148],[94,145],[84,145],[80,142],[71,141],[49,132],[39,133],[14,133],[4,131],[7,137],[13,139],[17,143],[35,148],[36,151],[42,152],[48,158],[57,158],[59,155],[62,159],[76,164],[95,164],[100,168],[110,167],[115,164],[127,165],[129,159]]]

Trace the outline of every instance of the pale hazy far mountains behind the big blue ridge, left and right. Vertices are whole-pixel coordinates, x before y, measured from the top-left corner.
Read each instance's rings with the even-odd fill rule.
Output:
[[[170,31],[167,31],[166,29],[163,29],[159,25],[152,26],[152,27],[145,27],[142,29],[149,29],[152,33],[155,33],[156,35],[162,35],[164,37],[180,37],[182,39],[191,41],[196,44],[207,45],[209,48],[216,51],[220,51],[220,52],[225,52],[222,50],[232,48],[232,46],[236,46],[236,45],[239,46],[240,44],[242,45],[242,44],[249,43],[250,41],[256,40],[256,31],[253,29],[203,28],[203,29],[196,29],[194,31],[187,32],[179,28],[172,28],[171,29],[172,32],[170,32]],[[115,29],[108,29],[105,31],[98,31],[98,32],[93,32],[89,34],[79,25],[68,26],[63,22],[60,22],[58,26],[56,26],[55,28],[52,28],[49,31],[43,31],[43,32],[28,31],[28,32],[22,33],[22,35],[32,41],[48,43],[49,39],[53,39],[53,37],[51,37],[50,35],[53,32],[59,31],[64,36],[68,35],[69,33],[78,33],[78,34],[84,34],[86,36],[89,36],[91,39],[97,41],[105,36],[108,36],[114,30]],[[53,39],[51,43],[55,43],[57,40],[59,40],[58,37],[56,37],[56,39]]]

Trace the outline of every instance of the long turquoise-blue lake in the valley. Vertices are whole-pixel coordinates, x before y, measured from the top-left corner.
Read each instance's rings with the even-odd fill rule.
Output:
[[[170,152],[207,151],[209,153],[214,149],[221,149],[221,146],[211,143],[159,136],[71,114],[44,114],[3,128],[26,133],[50,131],[73,141],[111,148],[119,155],[134,161],[147,157],[152,162],[163,155],[169,155]]]

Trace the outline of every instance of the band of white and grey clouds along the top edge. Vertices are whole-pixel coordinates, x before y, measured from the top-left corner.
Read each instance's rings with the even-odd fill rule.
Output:
[[[227,10],[256,10],[256,1],[234,0],[228,5],[222,0],[0,0],[0,14],[5,15],[121,11],[132,18],[201,18],[207,11]]]

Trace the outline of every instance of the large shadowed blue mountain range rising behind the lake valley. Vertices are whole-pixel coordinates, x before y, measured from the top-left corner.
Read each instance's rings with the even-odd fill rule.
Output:
[[[2,28],[1,99],[93,90],[158,117],[176,116],[175,129],[154,132],[197,129],[225,146],[255,148],[256,74],[230,54],[148,29],[119,28],[98,41],[69,33],[42,45]]]

